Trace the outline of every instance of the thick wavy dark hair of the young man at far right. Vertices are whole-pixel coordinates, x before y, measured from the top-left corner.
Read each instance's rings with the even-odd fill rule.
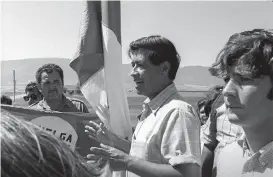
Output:
[[[242,76],[270,76],[273,81],[273,32],[254,29],[232,35],[210,68],[212,75],[225,77],[230,69]]]

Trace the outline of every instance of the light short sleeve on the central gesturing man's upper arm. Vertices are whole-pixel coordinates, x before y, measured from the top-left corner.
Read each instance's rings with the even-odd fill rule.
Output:
[[[200,121],[192,111],[175,109],[163,133],[161,153],[170,165],[201,166]]]

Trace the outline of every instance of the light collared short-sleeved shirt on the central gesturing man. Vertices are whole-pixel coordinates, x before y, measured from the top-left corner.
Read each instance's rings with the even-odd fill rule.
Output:
[[[174,84],[146,99],[136,126],[130,155],[172,166],[201,164],[200,120]],[[127,176],[137,176],[128,172]]]

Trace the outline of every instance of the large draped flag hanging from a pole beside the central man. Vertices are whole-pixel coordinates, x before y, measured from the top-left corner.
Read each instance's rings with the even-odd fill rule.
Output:
[[[80,42],[70,66],[83,95],[104,124],[131,139],[132,126],[122,80],[119,1],[87,1]]]

